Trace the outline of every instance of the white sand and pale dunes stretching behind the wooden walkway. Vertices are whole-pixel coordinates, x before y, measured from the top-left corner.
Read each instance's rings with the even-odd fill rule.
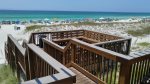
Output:
[[[34,31],[30,31],[25,33],[26,26],[25,25],[1,25],[0,28],[0,64],[5,62],[5,54],[4,54],[4,43],[7,40],[7,34],[12,34],[18,41],[22,41],[23,39],[28,40],[31,32],[36,31],[60,31],[60,30],[77,30],[77,29],[86,29],[92,31],[98,31],[103,33],[108,33],[112,35],[129,37],[132,38],[132,47],[137,46],[137,43],[148,42],[150,43],[150,35],[146,35],[143,37],[135,37],[131,36],[125,31],[128,29],[138,29],[141,25],[148,23],[117,23],[117,24],[101,24],[99,26],[89,26],[89,25],[81,25],[81,26],[72,26],[72,25],[62,25],[62,26],[51,26],[51,27],[43,27],[42,29],[36,29]],[[30,24],[29,24],[30,25]],[[20,27],[20,30],[15,30],[14,27]]]

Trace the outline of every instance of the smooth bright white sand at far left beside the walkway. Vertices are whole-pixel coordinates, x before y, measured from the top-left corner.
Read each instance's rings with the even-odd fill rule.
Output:
[[[4,43],[7,41],[7,34],[12,34],[16,39],[23,39],[26,35],[23,34],[24,25],[16,25],[20,30],[14,29],[15,25],[1,25],[0,28],[0,64],[5,63]]]

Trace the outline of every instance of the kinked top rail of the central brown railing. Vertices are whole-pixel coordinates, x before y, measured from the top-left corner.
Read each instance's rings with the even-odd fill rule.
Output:
[[[107,50],[107,49],[104,49],[104,48],[93,46],[92,44],[89,45],[88,43],[80,41],[78,39],[71,39],[65,48],[57,45],[56,43],[54,43],[52,41],[47,40],[47,39],[44,39],[43,41],[48,43],[49,45],[55,47],[56,49],[60,50],[61,52],[65,52],[71,44],[80,44],[82,46],[86,46],[88,48],[92,48],[91,50],[93,50],[94,52],[95,51],[99,51],[99,53],[101,53],[101,52],[106,53],[107,55],[105,55],[105,56],[109,56],[108,58],[110,58],[110,56],[111,56],[111,57],[113,57],[112,58],[113,60],[117,60],[117,59],[130,60],[130,59],[132,59],[132,57],[130,57],[130,56],[122,55],[122,54],[113,52],[111,50]],[[87,46],[87,45],[89,45],[89,46]]]

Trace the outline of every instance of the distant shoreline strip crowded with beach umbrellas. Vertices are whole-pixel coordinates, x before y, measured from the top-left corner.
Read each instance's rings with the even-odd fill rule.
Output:
[[[0,25],[11,25],[11,24],[39,24],[39,25],[53,25],[53,24],[70,24],[70,23],[80,23],[80,22],[92,22],[92,23],[140,23],[140,22],[150,22],[149,17],[126,17],[126,18],[82,18],[82,19],[57,19],[57,18],[44,18],[44,19],[30,19],[30,20],[0,20]]]

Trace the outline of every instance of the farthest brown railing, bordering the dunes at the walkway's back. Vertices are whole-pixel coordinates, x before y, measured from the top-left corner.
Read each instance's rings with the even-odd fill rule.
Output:
[[[40,35],[45,35],[48,40],[61,40],[61,39],[71,39],[74,37],[84,37],[93,40],[93,42],[104,42],[112,41],[117,39],[123,39],[118,36],[113,36],[109,34],[89,31],[89,30],[70,30],[70,31],[54,31],[54,32],[37,32],[32,33],[29,39],[29,43],[34,43],[39,45]],[[92,42],[92,43],[93,43]]]

